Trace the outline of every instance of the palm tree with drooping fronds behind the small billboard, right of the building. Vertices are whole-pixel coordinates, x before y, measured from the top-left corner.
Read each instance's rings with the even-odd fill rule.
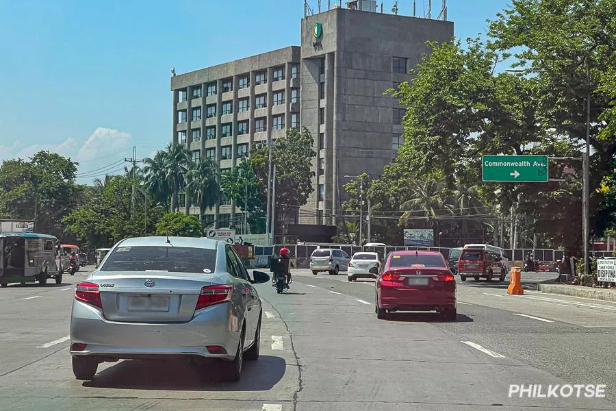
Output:
[[[411,199],[402,204],[402,210],[405,210],[400,217],[400,225],[409,227],[412,220],[409,217],[418,216],[414,212],[422,212],[424,217],[431,222],[433,228],[437,228],[437,219],[435,217],[442,215],[443,211],[448,210],[446,202],[444,182],[426,179],[423,182],[417,182],[412,186]]]

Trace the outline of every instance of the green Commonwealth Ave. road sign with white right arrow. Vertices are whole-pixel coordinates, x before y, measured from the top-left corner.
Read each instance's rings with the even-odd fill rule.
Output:
[[[547,182],[547,155],[484,155],[485,182]]]

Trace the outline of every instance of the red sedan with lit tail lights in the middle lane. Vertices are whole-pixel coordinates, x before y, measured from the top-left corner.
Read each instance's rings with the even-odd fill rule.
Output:
[[[438,251],[394,251],[376,278],[376,317],[385,319],[396,311],[437,311],[454,321],[456,291],[454,276]]]

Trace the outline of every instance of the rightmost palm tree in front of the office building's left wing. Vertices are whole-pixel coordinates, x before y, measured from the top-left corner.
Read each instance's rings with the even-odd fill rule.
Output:
[[[199,220],[203,221],[206,208],[216,206],[220,197],[220,186],[216,179],[216,163],[210,158],[202,158],[198,162],[190,162],[185,174],[187,197],[195,199],[199,206]],[[187,199],[188,201],[188,199]],[[186,204],[188,214],[188,203]]]

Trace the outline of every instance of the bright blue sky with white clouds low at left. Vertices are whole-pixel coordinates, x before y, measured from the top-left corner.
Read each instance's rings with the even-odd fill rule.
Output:
[[[418,15],[427,5],[417,0]],[[448,0],[448,20],[458,38],[474,37],[507,5]],[[411,15],[413,1],[398,7]],[[298,45],[303,0],[0,0],[0,10],[0,161],[49,149],[79,161],[79,182],[90,183],[133,145],[144,158],[168,143],[172,66]]]

